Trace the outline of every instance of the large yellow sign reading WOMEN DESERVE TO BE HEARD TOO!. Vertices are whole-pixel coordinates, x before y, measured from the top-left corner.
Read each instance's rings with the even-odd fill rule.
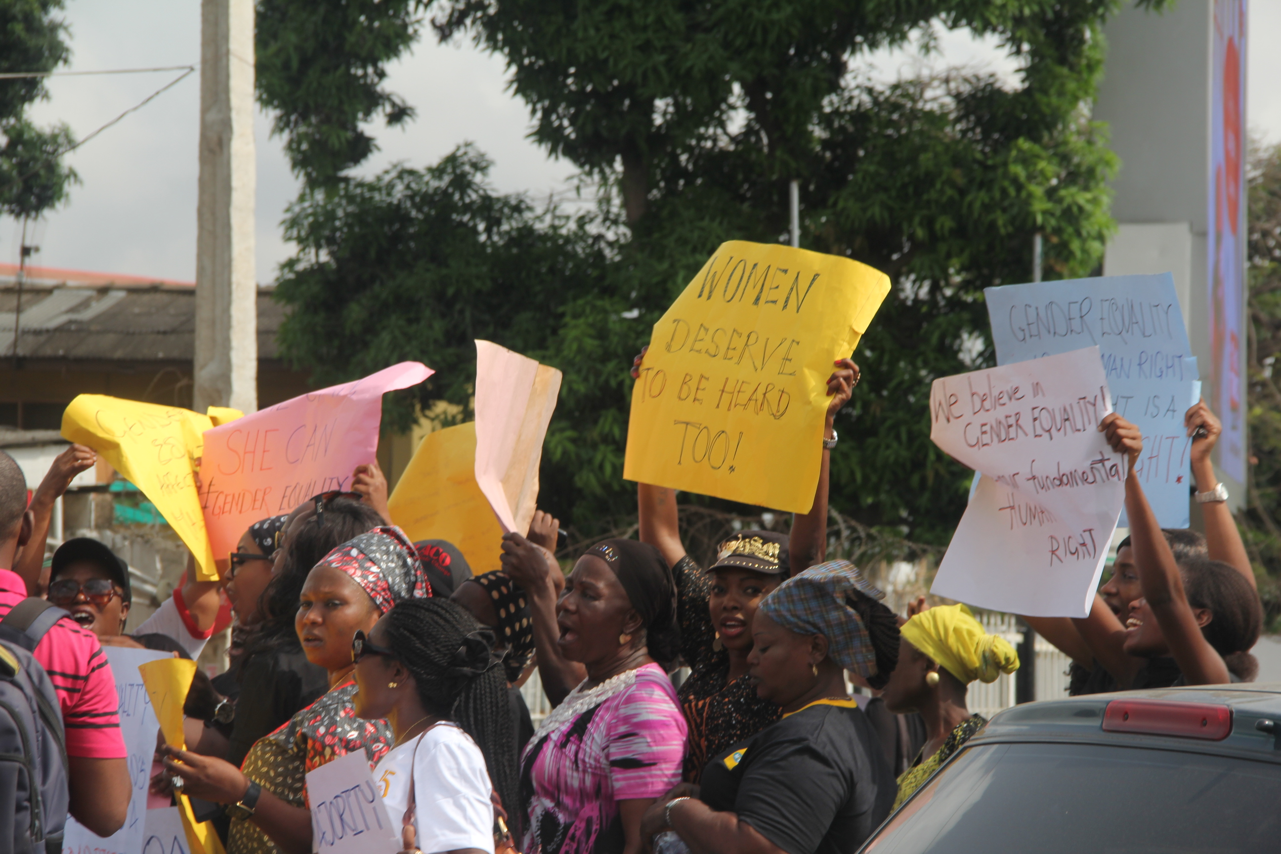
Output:
[[[889,278],[834,255],[729,241],[653,326],[623,476],[804,513],[833,362]]]

